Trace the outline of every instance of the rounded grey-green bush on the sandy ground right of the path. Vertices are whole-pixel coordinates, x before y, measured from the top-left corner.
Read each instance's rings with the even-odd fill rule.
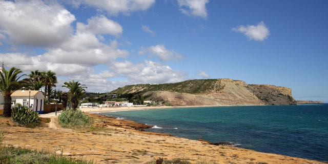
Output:
[[[81,110],[67,109],[58,116],[59,125],[62,127],[69,126],[87,126],[90,122],[90,117],[84,114]]]

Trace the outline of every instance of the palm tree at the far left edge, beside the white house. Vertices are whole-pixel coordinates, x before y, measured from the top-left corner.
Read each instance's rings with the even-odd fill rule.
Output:
[[[11,116],[11,94],[22,87],[20,77],[23,75],[18,75],[22,71],[18,68],[12,67],[7,71],[3,69],[0,73],[0,91],[4,94],[4,116]]]

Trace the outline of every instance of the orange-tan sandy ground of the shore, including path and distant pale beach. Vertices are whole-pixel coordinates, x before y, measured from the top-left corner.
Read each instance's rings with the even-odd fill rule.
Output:
[[[172,107],[166,107],[172,108]],[[83,108],[84,112],[153,109],[146,107]],[[132,129],[109,126],[113,120],[91,114],[95,120],[90,131],[61,128],[60,112],[43,114],[50,123],[39,128],[15,126],[8,118],[0,118],[4,131],[3,145],[54,152],[73,158],[93,159],[96,163],[148,163],[156,159],[184,159],[191,163],[324,163],[247,149],[209,145],[206,142],[156,135]],[[120,124],[120,123],[119,123]],[[97,131],[97,128],[106,129]]]

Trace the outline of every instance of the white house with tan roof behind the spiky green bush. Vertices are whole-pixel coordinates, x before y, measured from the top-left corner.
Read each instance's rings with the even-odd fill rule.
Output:
[[[11,94],[11,105],[19,103],[29,106],[31,110],[42,114],[44,112],[45,96],[40,91],[18,90]]]

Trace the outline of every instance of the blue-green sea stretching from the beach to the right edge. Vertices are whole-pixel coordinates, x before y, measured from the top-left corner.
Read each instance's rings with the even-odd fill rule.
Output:
[[[155,126],[146,131],[234,142],[259,152],[328,161],[328,104],[233,106],[102,113]]]

